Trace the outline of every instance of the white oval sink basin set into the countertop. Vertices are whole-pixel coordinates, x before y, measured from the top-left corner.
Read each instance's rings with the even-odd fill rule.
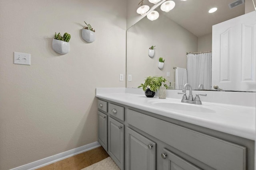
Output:
[[[229,110],[226,107],[215,106],[210,104],[187,104],[182,103],[181,101],[174,101],[174,100],[151,100],[148,101],[150,104],[156,107],[162,107],[166,109],[173,109],[178,111],[187,111],[187,112],[200,112],[200,113],[216,113],[216,111],[226,111]]]

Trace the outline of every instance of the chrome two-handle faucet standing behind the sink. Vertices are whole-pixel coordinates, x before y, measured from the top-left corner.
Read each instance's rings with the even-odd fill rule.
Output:
[[[187,98],[187,95],[186,95],[186,88],[188,87],[189,89],[189,96]],[[190,104],[202,104],[200,98],[199,98],[199,95],[200,96],[207,96],[207,94],[196,94],[196,97],[195,99],[193,99],[193,95],[192,95],[192,87],[190,84],[186,83],[182,89],[182,92],[178,92],[178,94],[183,94],[183,97],[182,97],[182,100],[181,102],[182,103],[190,103]]]

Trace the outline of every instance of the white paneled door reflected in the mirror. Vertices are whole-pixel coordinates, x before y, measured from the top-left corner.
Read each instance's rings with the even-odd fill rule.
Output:
[[[256,11],[212,26],[212,87],[254,91]]]

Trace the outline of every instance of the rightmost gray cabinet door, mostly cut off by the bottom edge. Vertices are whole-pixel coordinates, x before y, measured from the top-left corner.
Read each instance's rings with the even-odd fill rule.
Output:
[[[163,151],[161,157],[164,159],[164,170],[202,170],[167,149]]]

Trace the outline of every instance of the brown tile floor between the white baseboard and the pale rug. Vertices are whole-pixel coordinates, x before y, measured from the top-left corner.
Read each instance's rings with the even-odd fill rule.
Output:
[[[108,156],[108,153],[102,147],[98,147],[36,170],[81,170]]]

